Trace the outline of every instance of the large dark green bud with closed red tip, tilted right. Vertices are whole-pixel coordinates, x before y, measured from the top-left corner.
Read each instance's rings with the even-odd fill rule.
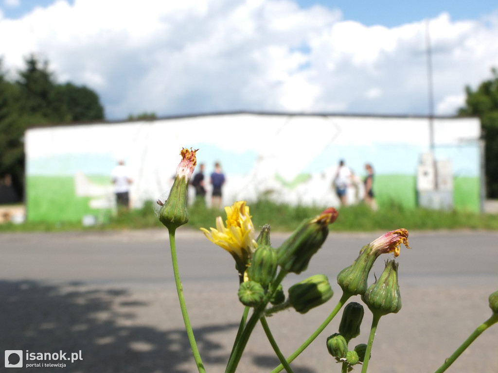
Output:
[[[337,211],[327,208],[313,219],[304,220],[278,248],[278,264],[283,270],[300,274],[329,234],[328,225],[337,219]]]

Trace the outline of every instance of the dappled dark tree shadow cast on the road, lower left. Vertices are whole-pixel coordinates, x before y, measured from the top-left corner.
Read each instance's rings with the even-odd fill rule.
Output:
[[[81,287],[81,289],[79,288]],[[0,281],[1,334],[3,350],[29,353],[66,352],[62,372],[77,373],[186,373],[192,371],[192,353],[183,325],[167,331],[148,326],[130,326],[134,307],[146,302],[120,302],[126,311],[116,311],[113,302],[126,295],[124,289],[88,289],[83,284],[47,285],[37,281]],[[227,346],[216,341],[215,333],[238,325],[212,325],[196,328],[194,334],[204,364],[225,365]],[[71,363],[71,353],[81,350],[82,361]],[[44,363],[59,363],[45,361]],[[189,364],[185,364],[189,362]],[[271,351],[257,355],[252,363],[270,371],[278,360]],[[25,367],[25,365],[24,365]],[[22,372],[54,372],[56,368],[31,367]],[[312,373],[297,369],[299,373]]]

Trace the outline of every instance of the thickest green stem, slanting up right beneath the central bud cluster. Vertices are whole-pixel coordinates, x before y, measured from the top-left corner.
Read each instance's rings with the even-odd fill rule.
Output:
[[[284,270],[280,271],[276,280],[271,284],[270,290],[264,296],[261,304],[259,304],[254,309],[254,312],[252,313],[251,317],[249,318],[249,321],[246,324],[246,327],[244,328],[244,331],[242,332],[242,334],[239,338],[239,341],[236,342],[235,350],[233,351],[233,353],[230,356],[225,373],[234,373],[236,371],[237,365],[239,364],[239,361],[241,360],[242,353],[244,352],[244,349],[246,348],[246,345],[249,341],[249,336],[252,333],[252,330],[256,326],[259,318],[264,315],[264,309],[266,308],[266,305],[270,301],[271,295],[273,294],[273,292],[276,290],[276,288],[278,287],[280,282],[282,282],[283,278],[286,275],[287,275],[287,271],[284,271]]]

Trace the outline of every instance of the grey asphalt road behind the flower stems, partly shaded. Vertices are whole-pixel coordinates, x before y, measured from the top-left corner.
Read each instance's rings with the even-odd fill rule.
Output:
[[[288,287],[322,273],[336,292],[329,303],[305,315],[284,311],[268,319],[284,355],[328,315],[341,294],[337,273],[381,233],[331,234],[308,270],[284,281]],[[286,236],[272,233],[273,246]],[[409,242],[413,249],[403,247],[398,258],[403,307],[380,320],[372,373],[434,372],[491,315],[488,296],[498,289],[498,233],[410,232]],[[243,310],[233,259],[202,233],[181,229],[177,250],[204,365],[207,372],[223,372]],[[379,275],[383,263],[377,262]],[[4,350],[82,351],[83,360],[66,362],[65,368],[19,372],[197,371],[176,298],[166,230],[0,234],[0,299]],[[293,362],[295,373],[340,371],[325,349],[339,319]],[[366,343],[370,322],[367,311],[353,346]],[[495,325],[448,372],[498,372],[497,346]],[[269,372],[276,365],[256,327],[239,371]]]

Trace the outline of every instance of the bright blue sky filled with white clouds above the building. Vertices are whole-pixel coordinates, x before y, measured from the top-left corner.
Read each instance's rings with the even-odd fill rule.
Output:
[[[228,111],[454,115],[498,67],[491,0],[0,0],[11,79],[34,53],[109,120]]]

